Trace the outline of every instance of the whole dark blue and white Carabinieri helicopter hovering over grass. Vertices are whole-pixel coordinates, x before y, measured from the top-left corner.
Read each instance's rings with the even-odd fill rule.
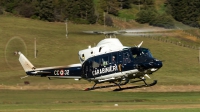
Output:
[[[95,90],[118,86],[118,91],[131,89],[133,87],[122,88],[130,80],[131,83],[144,82],[145,87],[154,86],[157,80],[151,84],[146,83],[149,75],[158,71],[162,66],[162,61],[154,58],[148,48],[141,47],[143,41],[134,47],[124,46],[115,36],[116,32],[104,32],[107,38],[101,40],[95,47],[89,46],[87,49],[78,52],[80,63],[68,66],[55,66],[36,68],[20,51],[19,62],[28,76],[41,76],[62,79],[84,79],[94,82],[94,85],[85,90]],[[137,79],[137,80],[135,80]],[[111,85],[96,86],[100,83],[109,82]]]

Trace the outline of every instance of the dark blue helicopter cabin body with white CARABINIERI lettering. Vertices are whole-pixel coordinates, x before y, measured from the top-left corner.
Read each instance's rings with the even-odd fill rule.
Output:
[[[124,48],[88,58],[82,64],[81,77],[97,83],[133,79],[152,74],[160,67],[162,62],[153,58],[148,49]]]

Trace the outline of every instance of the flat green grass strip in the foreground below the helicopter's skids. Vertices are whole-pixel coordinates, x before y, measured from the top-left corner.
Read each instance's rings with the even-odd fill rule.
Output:
[[[1,90],[0,111],[197,111],[199,109],[197,107],[200,101],[199,95],[195,92]]]

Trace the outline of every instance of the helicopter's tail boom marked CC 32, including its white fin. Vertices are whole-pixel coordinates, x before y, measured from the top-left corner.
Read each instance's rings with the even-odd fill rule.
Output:
[[[35,68],[21,52],[18,52],[17,54],[19,54],[19,62],[27,75],[48,78],[81,79],[81,64]]]

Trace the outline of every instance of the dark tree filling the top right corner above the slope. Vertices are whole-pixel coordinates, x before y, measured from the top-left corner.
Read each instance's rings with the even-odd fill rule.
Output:
[[[170,13],[174,19],[184,24],[200,27],[200,1],[199,0],[167,0]]]

